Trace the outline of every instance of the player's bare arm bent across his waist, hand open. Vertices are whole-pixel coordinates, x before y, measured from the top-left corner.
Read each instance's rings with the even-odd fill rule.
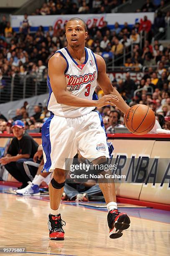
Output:
[[[107,104],[114,106],[119,99],[115,95],[105,95],[100,100],[86,100],[71,95],[67,91],[66,77],[66,61],[59,54],[54,54],[48,61],[48,75],[53,94],[59,104],[64,104],[73,107],[103,107]]]

